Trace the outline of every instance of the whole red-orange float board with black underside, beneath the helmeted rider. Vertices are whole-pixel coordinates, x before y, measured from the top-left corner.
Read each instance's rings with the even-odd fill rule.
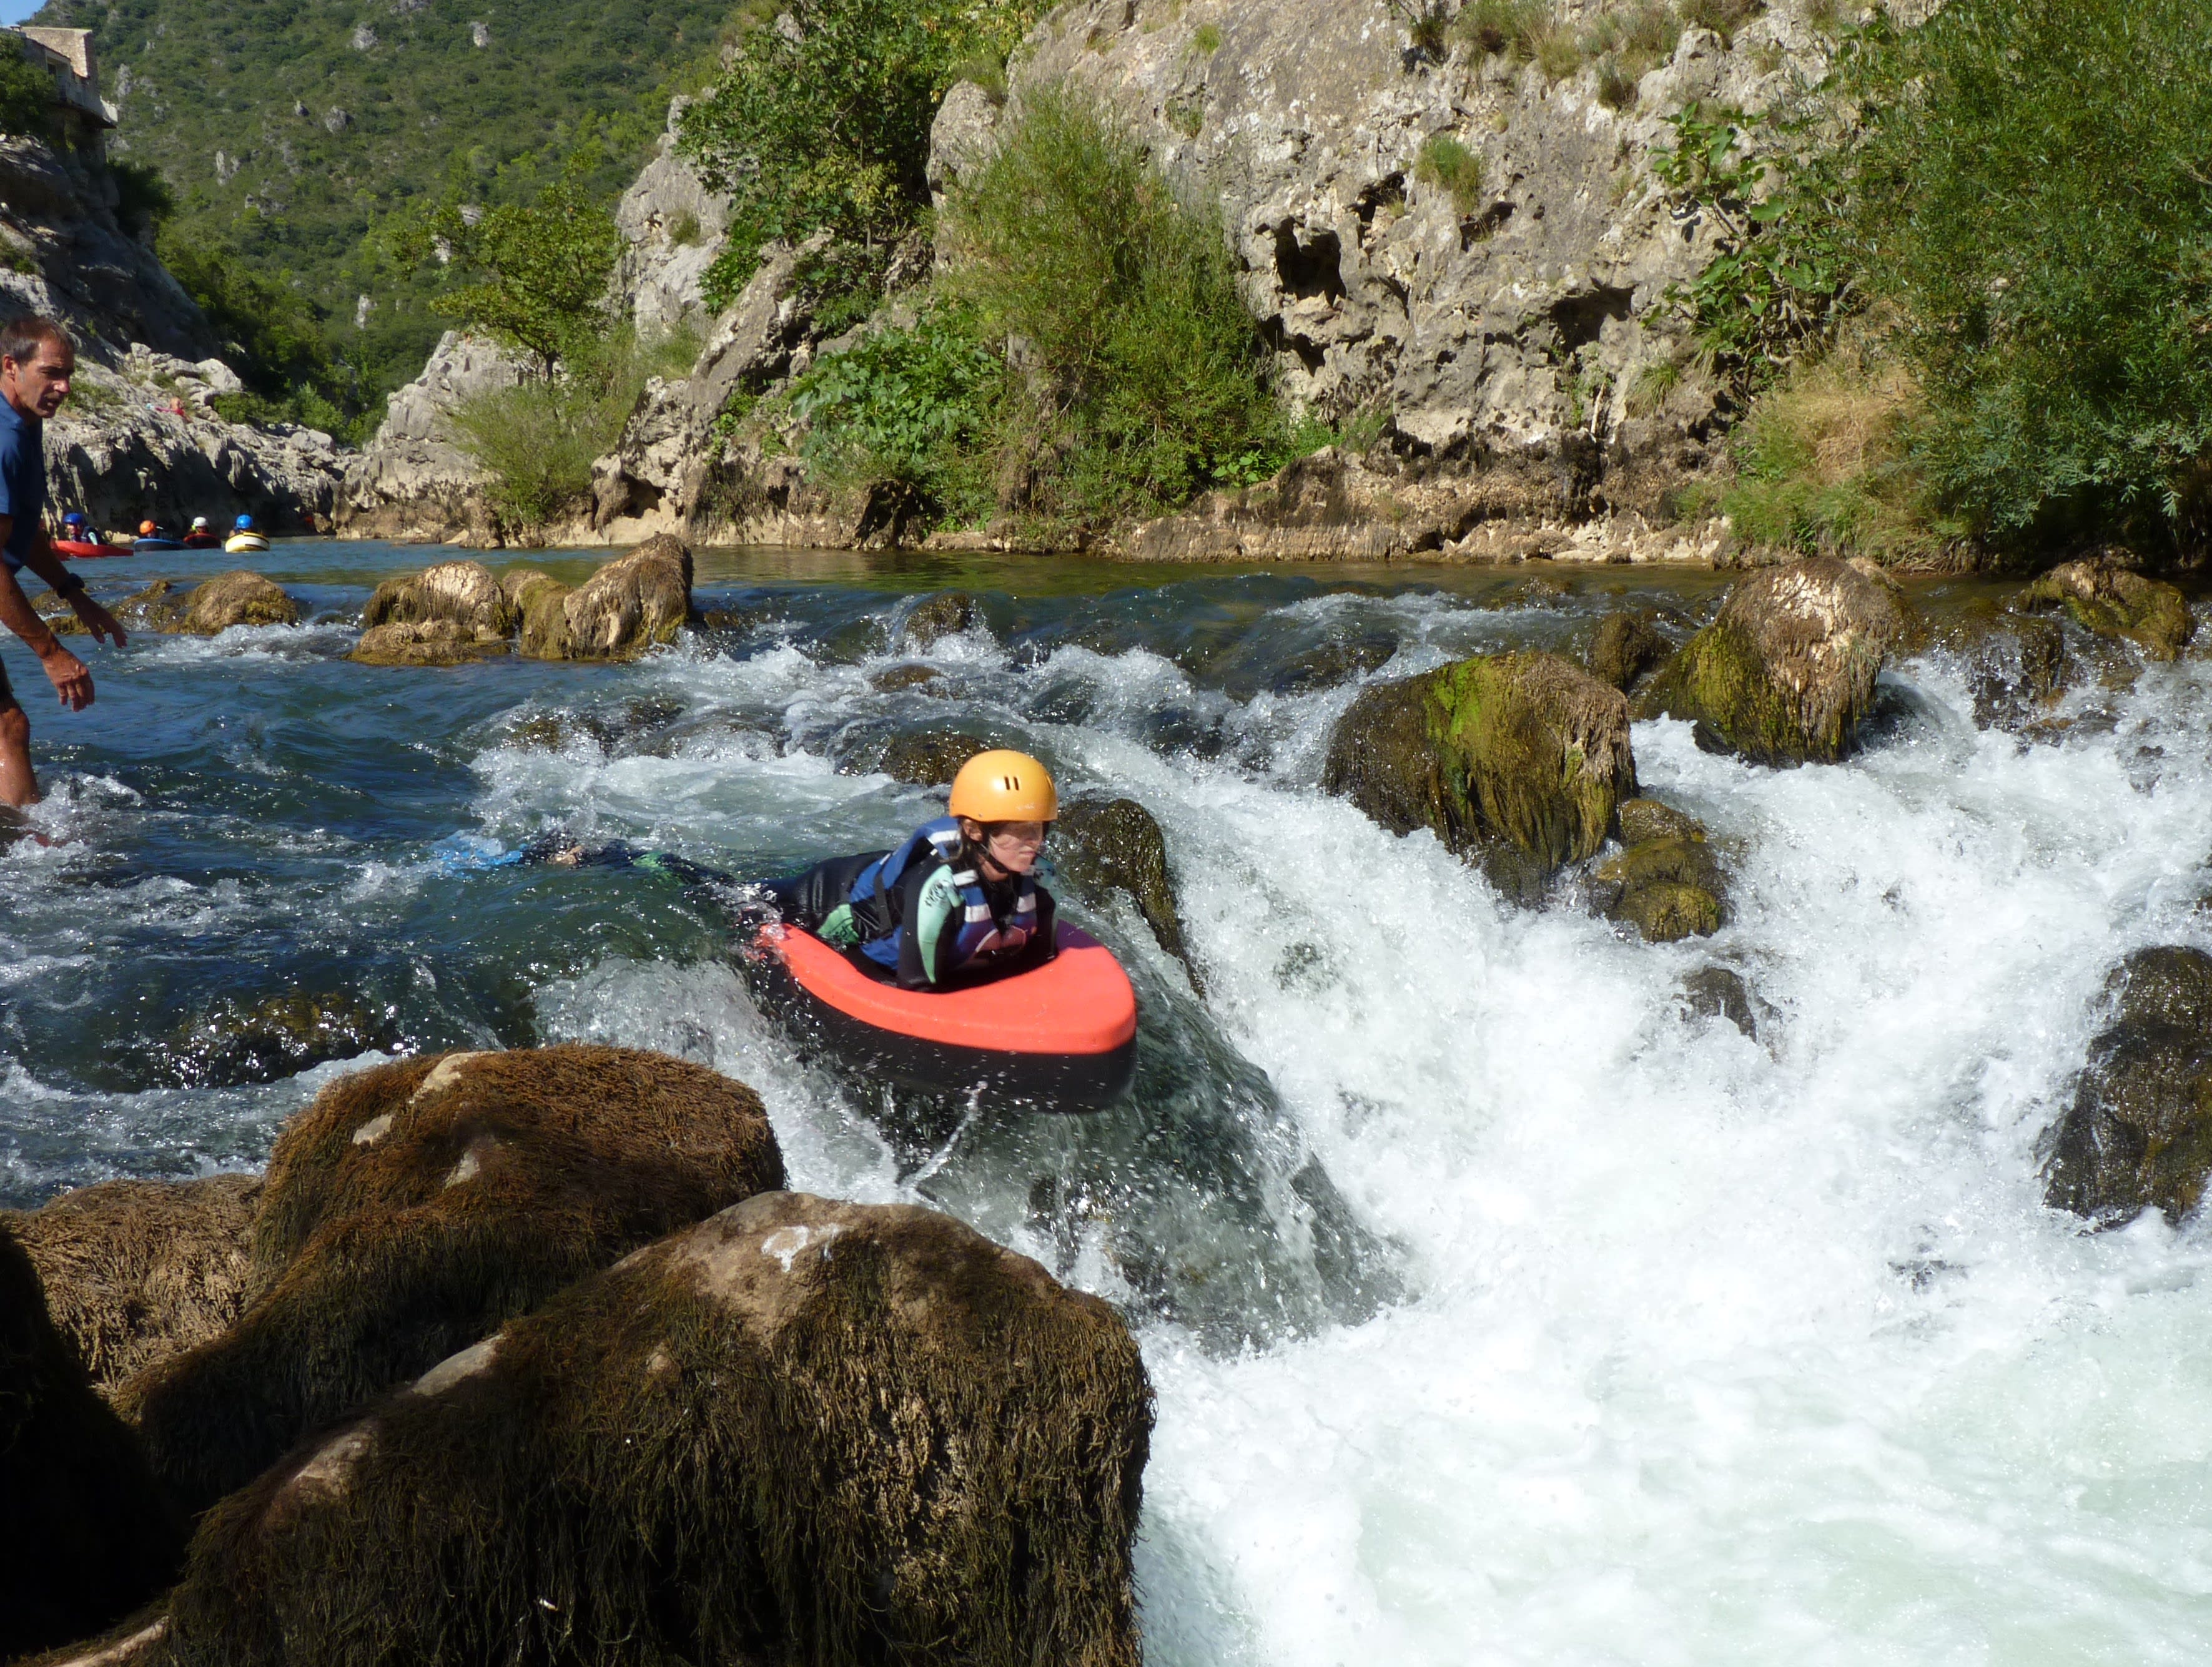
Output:
[[[1128,973],[1068,924],[1044,966],[951,990],[869,977],[796,926],[765,926],[759,948],[830,1046],[925,1088],[1088,1112],[1126,1094],[1137,1070]]]

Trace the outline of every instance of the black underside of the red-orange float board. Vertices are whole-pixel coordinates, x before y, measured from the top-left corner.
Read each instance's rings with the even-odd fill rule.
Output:
[[[1040,1055],[998,1048],[958,1048],[878,1030],[807,990],[774,955],[759,968],[770,1006],[785,1024],[854,1068],[945,1094],[973,1097],[978,1105],[1024,1112],[1102,1112],[1137,1077],[1137,1039],[1113,1052]]]

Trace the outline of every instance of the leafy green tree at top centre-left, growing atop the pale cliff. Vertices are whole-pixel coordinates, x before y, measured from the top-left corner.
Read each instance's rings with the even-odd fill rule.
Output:
[[[684,153],[732,197],[708,274],[726,305],[761,248],[816,230],[880,252],[929,203],[929,122],[978,60],[1004,62],[1037,0],[759,0],[739,13],[721,82],[684,113]]]

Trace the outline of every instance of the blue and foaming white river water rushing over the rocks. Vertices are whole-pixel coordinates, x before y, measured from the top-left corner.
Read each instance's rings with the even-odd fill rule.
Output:
[[[1712,575],[708,553],[723,628],[637,665],[347,663],[425,559],[283,544],[321,623],[93,652],[77,716],[0,646],[53,838],[0,851],[0,1203],[259,1165],[394,1052],[661,1048],[761,1090],[794,1187],[931,1203],[1121,1307],[1161,1667],[2212,1652],[2212,1227],[2088,1234],[2037,1152],[2112,962],[2212,946],[2201,650],[2035,743],[1975,727],[1947,650],[1840,767],[1639,723],[1732,876],[1717,937],[1650,946],[1316,780],[1363,677],[1577,650],[1619,606],[1688,628]],[[86,577],[228,559],[124,566]],[[987,626],[911,652],[949,586]],[[940,677],[876,688],[911,663]],[[1166,829],[1203,995],[1126,902],[1064,902],[1139,986],[1115,1112],[916,1139],[761,1015],[699,895],[491,862],[551,829],[750,876],[889,845],[936,800],[869,747],[929,727]],[[1708,964],[1756,1037],[1683,999]],[[285,1052],[248,1019],[301,995]]]

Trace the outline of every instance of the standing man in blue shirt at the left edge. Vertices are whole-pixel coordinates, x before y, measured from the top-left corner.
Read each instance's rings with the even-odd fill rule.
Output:
[[[84,579],[62,566],[46,539],[46,418],[69,398],[77,371],[77,349],[51,318],[15,318],[0,327],[0,626],[38,654],[55,694],[71,712],[93,703],[93,674],[62,648],[46,621],[22,593],[18,575],[31,568],[69,599],[93,637],[124,646],[115,615],[84,595]],[[0,665],[0,805],[22,809],[38,803],[31,774],[31,721],[15,705],[15,692]]]

